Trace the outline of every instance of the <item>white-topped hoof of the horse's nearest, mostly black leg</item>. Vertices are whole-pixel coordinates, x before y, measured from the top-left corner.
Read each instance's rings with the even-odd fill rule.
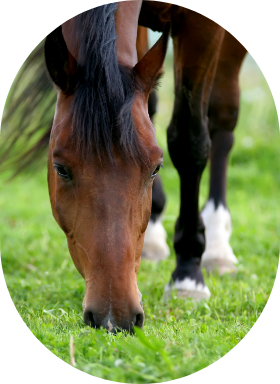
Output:
[[[164,288],[164,299],[171,297],[171,291],[174,291],[178,297],[183,297],[184,299],[193,298],[195,300],[209,299],[211,293],[206,285],[202,283],[196,283],[195,280],[192,280],[186,277],[184,280],[176,280],[174,284],[166,284]]]

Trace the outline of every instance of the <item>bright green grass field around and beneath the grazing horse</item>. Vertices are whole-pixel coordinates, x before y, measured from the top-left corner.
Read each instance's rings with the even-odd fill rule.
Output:
[[[238,271],[234,276],[205,274],[212,294],[208,301],[184,301],[175,296],[164,302],[163,289],[175,266],[172,237],[179,209],[179,180],[166,145],[173,103],[172,58],[167,58],[155,126],[165,152],[165,168],[160,173],[167,193],[164,226],[172,253],[158,264],[141,263],[138,285],[146,319],[136,336],[113,336],[85,327],[84,280],[52,217],[46,167],[33,175],[21,174],[9,184],[4,183],[7,174],[0,176],[3,274],[30,338],[35,337],[69,364],[72,335],[75,368],[91,376],[119,383],[163,383],[217,362],[250,332],[266,307],[278,268],[280,135],[271,90],[249,55],[242,68],[241,88],[240,117],[228,169],[231,245],[239,260]],[[201,207],[207,195],[208,169],[201,184]],[[12,308],[11,303],[9,311],[16,316]],[[28,332],[23,323],[20,326],[20,318],[17,334],[19,330]],[[39,343],[36,354],[40,354]]]

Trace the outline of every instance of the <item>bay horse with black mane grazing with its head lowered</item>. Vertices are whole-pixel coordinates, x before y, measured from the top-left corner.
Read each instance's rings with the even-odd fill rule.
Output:
[[[162,32],[139,60],[138,24]],[[179,296],[209,298],[201,270],[205,235],[199,184],[210,153],[210,194],[203,218],[207,243],[210,236],[209,247],[214,239],[215,249],[211,253],[209,248],[205,265],[231,268],[236,259],[224,251],[217,257],[216,243],[229,233],[226,164],[245,47],[206,16],[155,0],[89,9],[59,25],[45,41],[57,102],[51,131],[33,149],[49,139],[50,201],[85,279],[84,322],[110,332],[133,332],[144,323],[137,272],[150,216],[150,223],[156,222],[164,206],[157,180],[163,151],[148,106],[152,115],[152,90],[162,75],[170,31],[175,101],[167,135],[180,176],[181,206],[174,236],[176,268],[165,294],[176,289]]]

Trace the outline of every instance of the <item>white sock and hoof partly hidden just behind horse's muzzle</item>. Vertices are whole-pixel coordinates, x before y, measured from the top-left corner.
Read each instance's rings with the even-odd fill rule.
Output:
[[[169,256],[169,247],[166,243],[166,232],[161,220],[149,221],[145,232],[142,258],[152,261],[164,260]]]

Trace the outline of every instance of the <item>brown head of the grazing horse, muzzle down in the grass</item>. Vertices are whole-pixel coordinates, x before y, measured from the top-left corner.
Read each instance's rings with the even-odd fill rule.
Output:
[[[47,68],[57,89],[48,152],[52,211],[67,237],[74,264],[85,279],[85,323],[113,332],[132,331],[133,326],[142,327],[144,322],[137,272],[150,218],[153,179],[163,161],[147,102],[162,71],[168,36],[169,27],[134,68],[119,66],[122,79],[128,83],[132,79],[134,95],[118,107],[118,116],[107,116],[116,114],[115,98],[106,89],[104,96],[102,83],[94,89],[95,81],[100,80],[93,79],[95,73],[90,73],[87,84],[81,81],[91,64],[86,56],[78,61],[72,56],[61,26],[48,35],[45,45]],[[116,60],[113,54],[112,60]],[[99,73],[99,69],[92,71]],[[110,75],[110,81],[114,81],[114,73],[105,74],[104,79]],[[99,92],[103,92],[105,101],[96,96]],[[91,97],[97,101],[91,102]],[[102,119],[92,123],[103,106],[101,116],[105,114],[105,120],[113,125],[110,130],[103,127]],[[129,112],[124,113],[125,108]],[[85,114],[87,120],[83,120]],[[133,129],[127,132],[125,116],[129,114]],[[94,130],[99,130],[99,136]],[[129,147],[132,140],[134,144]]]

